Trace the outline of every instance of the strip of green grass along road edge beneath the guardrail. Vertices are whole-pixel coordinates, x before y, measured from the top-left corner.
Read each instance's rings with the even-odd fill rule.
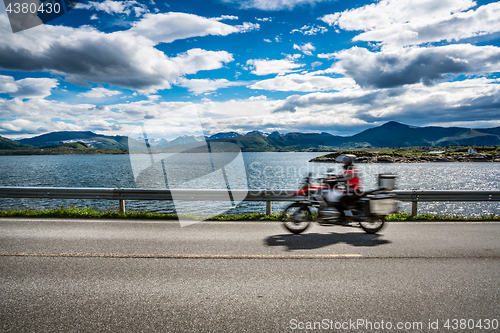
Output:
[[[151,213],[144,211],[131,211],[122,214],[118,211],[98,211],[94,208],[85,207],[59,207],[46,210],[3,210],[0,211],[0,217],[45,217],[45,218],[104,218],[104,219],[150,219],[150,220],[177,220],[175,214]],[[241,215],[217,215],[213,217],[183,215],[183,218],[192,220],[209,221],[280,221],[283,215],[281,213],[263,214],[251,213]],[[463,217],[448,215],[430,215],[423,214],[411,216],[408,213],[397,213],[389,215],[387,221],[500,221],[500,216],[491,214],[481,217]]]

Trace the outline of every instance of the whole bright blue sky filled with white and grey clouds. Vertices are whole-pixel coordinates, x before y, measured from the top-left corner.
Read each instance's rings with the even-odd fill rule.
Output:
[[[496,127],[499,17],[471,0],[82,0],[13,33],[0,4],[0,135],[128,135],[186,106],[206,134]]]

